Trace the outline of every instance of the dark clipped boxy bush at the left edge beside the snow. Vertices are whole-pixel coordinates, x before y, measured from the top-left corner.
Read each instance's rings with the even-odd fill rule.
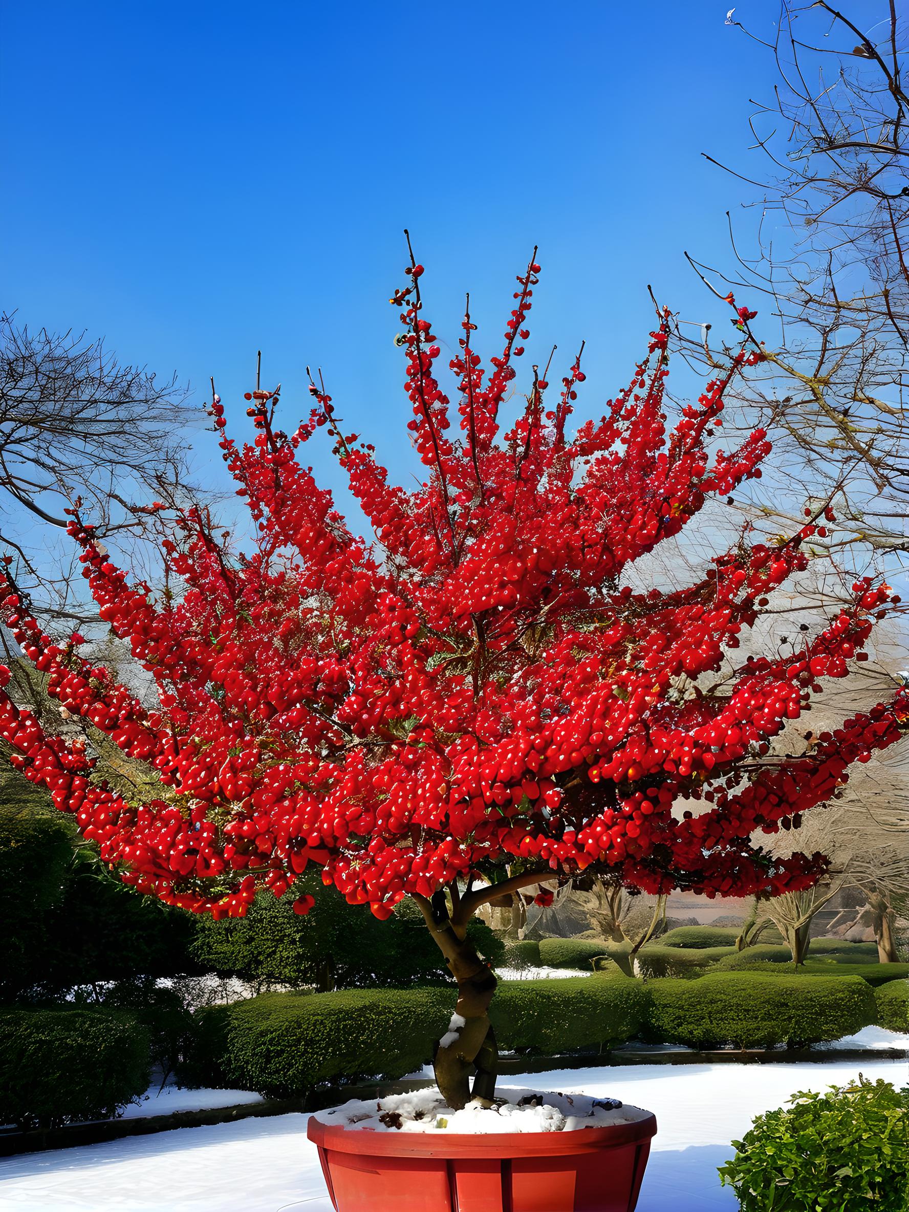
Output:
[[[0,1011],[0,1124],[105,1119],[148,1088],[149,1035],[125,1012]]]

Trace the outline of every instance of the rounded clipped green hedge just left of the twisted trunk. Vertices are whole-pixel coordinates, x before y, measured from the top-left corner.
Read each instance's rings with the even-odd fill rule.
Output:
[[[200,1010],[194,1054],[179,1076],[274,1098],[326,1082],[401,1077],[429,1059],[454,999],[453,985],[344,989],[263,994]]]

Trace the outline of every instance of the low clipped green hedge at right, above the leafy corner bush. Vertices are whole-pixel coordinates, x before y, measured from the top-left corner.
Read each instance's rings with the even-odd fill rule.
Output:
[[[694,1048],[800,1047],[854,1035],[876,1017],[871,989],[854,977],[727,972],[647,988],[650,1036]]]

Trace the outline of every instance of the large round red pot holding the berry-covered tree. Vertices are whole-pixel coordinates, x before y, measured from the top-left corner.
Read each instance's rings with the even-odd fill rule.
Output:
[[[657,1120],[488,1136],[309,1120],[337,1212],[634,1212]]]

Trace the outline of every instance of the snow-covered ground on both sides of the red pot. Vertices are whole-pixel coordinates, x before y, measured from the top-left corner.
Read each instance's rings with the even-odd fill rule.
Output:
[[[869,1028],[871,1033],[880,1029]],[[868,1035],[861,1045],[905,1044]],[[854,1046],[854,1045],[852,1045]],[[646,1107],[659,1131],[639,1212],[734,1212],[716,1167],[760,1111],[799,1090],[856,1077],[909,1081],[903,1060],[822,1064],[690,1064],[567,1069],[509,1076],[508,1085],[579,1091]],[[195,1093],[198,1100],[204,1092]],[[223,1093],[221,1091],[218,1094]],[[233,1092],[231,1092],[233,1097]],[[4,1212],[331,1212],[305,1115],[177,1128],[107,1144],[0,1160]]]

